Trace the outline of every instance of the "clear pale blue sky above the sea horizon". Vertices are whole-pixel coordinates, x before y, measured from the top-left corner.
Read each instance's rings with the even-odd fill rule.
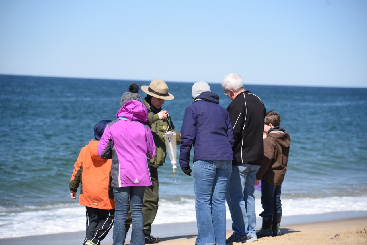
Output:
[[[0,0],[0,74],[367,87],[367,1]]]

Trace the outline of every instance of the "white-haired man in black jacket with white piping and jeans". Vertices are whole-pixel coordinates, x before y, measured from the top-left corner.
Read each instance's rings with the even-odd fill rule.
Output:
[[[232,100],[227,111],[235,139],[232,174],[226,192],[233,230],[233,234],[226,239],[226,245],[230,245],[232,242],[257,241],[254,185],[264,156],[266,109],[259,97],[244,89],[238,74],[229,73],[222,81],[222,88]]]

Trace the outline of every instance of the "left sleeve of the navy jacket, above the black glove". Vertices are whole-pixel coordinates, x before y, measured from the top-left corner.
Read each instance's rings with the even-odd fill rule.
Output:
[[[190,150],[195,144],[196,119],[191,107],[185,109],[181,127],[181,145],[179,162],[181,167],[190,166]]]

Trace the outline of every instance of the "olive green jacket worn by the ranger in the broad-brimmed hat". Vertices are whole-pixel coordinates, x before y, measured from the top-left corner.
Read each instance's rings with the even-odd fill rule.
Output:
[[[148,120],[152,123],[152,127],[150,130],[152,131],[154,144],[156,146],[156,154],[155,156],[150,159],[150,166],[159,167],[162,166],[164,163],[164,159],[166,158],[166,144],[164,143],[163,134],[166,133],[167,127],[168,131],[175,131],[176,132],[176,142],[177,145],[181,144],[180,133],[177,130],[174,130],[175,126],[172,123],[172,120],[169,115],[164,120],[159,119],[158,114],[154,114],[150,108],[148,102],[143,100],[142,102],[146,108],[148,109]],[[169,119],[169,120],[168,120]],[[168,126],[168,122],[170,122]]]

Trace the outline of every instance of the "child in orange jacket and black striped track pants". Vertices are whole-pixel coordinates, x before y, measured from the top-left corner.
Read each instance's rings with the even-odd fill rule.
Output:
[[[99,245],[113,225],[115,200],[111,188],[111,159],[97,154],[99,140],[110,120],[99,121],[94,127],[95,140],[80,150],[70,179],[70,197],[76,199],[80,184],[79,203],[86,206],[87,230],[84,245]]]

